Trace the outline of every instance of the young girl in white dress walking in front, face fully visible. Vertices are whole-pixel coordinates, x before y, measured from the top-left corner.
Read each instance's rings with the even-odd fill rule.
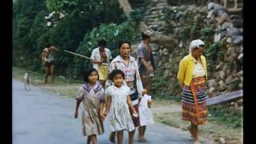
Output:
[[[117,132],[118,144],[122,144],[123,130],[132,131],[135,129],[129,107],[134,117],[138,117],[130,100],[130,88],[122,83],[124,78],[125,74],[122,70],[113,70],[110,73],[110,80],[114,82],[114,85],[105,90],[107,100],[106,110],[103,114],[105,116],[109,114],[110,131]]]

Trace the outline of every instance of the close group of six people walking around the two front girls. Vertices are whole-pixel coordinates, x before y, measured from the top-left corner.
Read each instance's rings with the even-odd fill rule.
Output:
[[[96,135],[103,134],[102,121],[107,115],[110,142],[115,142],[117,136],[118,143],[122,143],[123,130],[127,130],[129,143],[134,143],[136,127],[139,127],[139,142],[146,142],[146,126],[154,124],[149,108],[153,99],[150,97],[150,80],[147,79],[154,75],[154,60],[150,36],[143,33],[142,39],[138,46],[138,61],[130,55],[131,46],[127,41],[118,43],[119,55],[111,62],[112,56],[105,40],[98,41],[98,47],[92,51],[93,68],[86,70],[74,114],[77,118],[79,104],[83,102],[82,131],[88,136],[87,143],[97,143]],[[105,86],[106,82],[110,82],[110,86]]]

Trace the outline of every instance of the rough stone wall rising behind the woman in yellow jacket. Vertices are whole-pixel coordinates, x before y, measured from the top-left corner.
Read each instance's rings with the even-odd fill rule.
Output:
[[[155,33],[151,46],[157,73],[167,81],[166,93],[180,94],[176,78],[178,63],[188,54],[189,43],[195,38],[203,39],[209,46],[205,53],[209,73],[207,95],[214,97],[242,89],[243,18],[241,4],[239,6],[226,9],[214,2],[206,6],[167,6],[166,1],[148,1],[143,21]],[[186,28],[190,28],[187,33]],[[136,54],[136,50],[134,52]],[[217,54],[216,59],[213,60],[211,54]]]

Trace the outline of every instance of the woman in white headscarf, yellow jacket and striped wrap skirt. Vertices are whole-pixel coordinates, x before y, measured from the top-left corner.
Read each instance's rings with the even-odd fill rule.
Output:
[[[207,122],[205,84],[206,58],[202,55],[205,43],[200,39],[190,42],[190,54],[179,62],[178,82],[182,86],[182,120],[190,121],[188,127],[194,142],[198,143],[198,125]]]

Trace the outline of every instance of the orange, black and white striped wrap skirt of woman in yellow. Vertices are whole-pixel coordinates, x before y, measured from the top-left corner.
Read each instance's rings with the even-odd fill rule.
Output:
[[[190,86],[182,90],[182,120],[190,121],[193,125],[207,122],[205,78],[192,78]]]

